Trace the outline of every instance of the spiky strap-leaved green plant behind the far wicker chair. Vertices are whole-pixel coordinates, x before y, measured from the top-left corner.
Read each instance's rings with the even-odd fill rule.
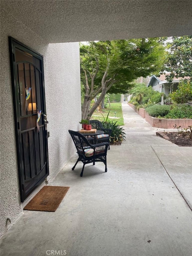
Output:
[[[114,143],[114,142],[122,142],[123,140],[125,140],[125,130],[120,127],[116,122],[113,121],[103,121],[103,127],[104,128],[108,128],[108,129],[112,129],[111,135],[110,135],[110,142]]]

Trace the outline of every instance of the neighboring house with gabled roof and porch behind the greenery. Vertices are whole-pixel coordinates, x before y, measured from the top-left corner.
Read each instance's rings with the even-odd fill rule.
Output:
[[[175,92],[176,89],[178,88],[179,82],[182,80],[181,77],[176,78],[174,77],[173,81],[169,83],[166,80],[166,76],[163,74],[160,77],[156,77],[155,75],[152,75],[147,87],[152,86],[154,91],[157,92],[164,92],[166,96],[169,95],[170,92]]]

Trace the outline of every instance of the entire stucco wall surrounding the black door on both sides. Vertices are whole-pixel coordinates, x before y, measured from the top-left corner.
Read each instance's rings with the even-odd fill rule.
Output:
[[[75,148],[72,140],[69,140],[68,129],[78,129],[81,119],[79,44],[48,44],[9,13],[1,10],[0,235],[22,215],[8,36],[44,55],[46,111],[50,131],[48,180],[52,179],[74,154]],[[6,222],[7,217],[11,218],[11,223]]]

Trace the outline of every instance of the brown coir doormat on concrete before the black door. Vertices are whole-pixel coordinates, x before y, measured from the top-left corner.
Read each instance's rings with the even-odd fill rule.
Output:
[[[68,189],[69,187],[44,186],[23,209],[55,212]]]

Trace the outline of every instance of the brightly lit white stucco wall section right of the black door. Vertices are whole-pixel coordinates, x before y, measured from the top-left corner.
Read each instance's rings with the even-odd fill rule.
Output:
[[[50,65],[51,63],[51,65]],[[49,44],[44,58],[49,149],[49,179],[74,154],[68,130],[81,120],[79,43]]]

